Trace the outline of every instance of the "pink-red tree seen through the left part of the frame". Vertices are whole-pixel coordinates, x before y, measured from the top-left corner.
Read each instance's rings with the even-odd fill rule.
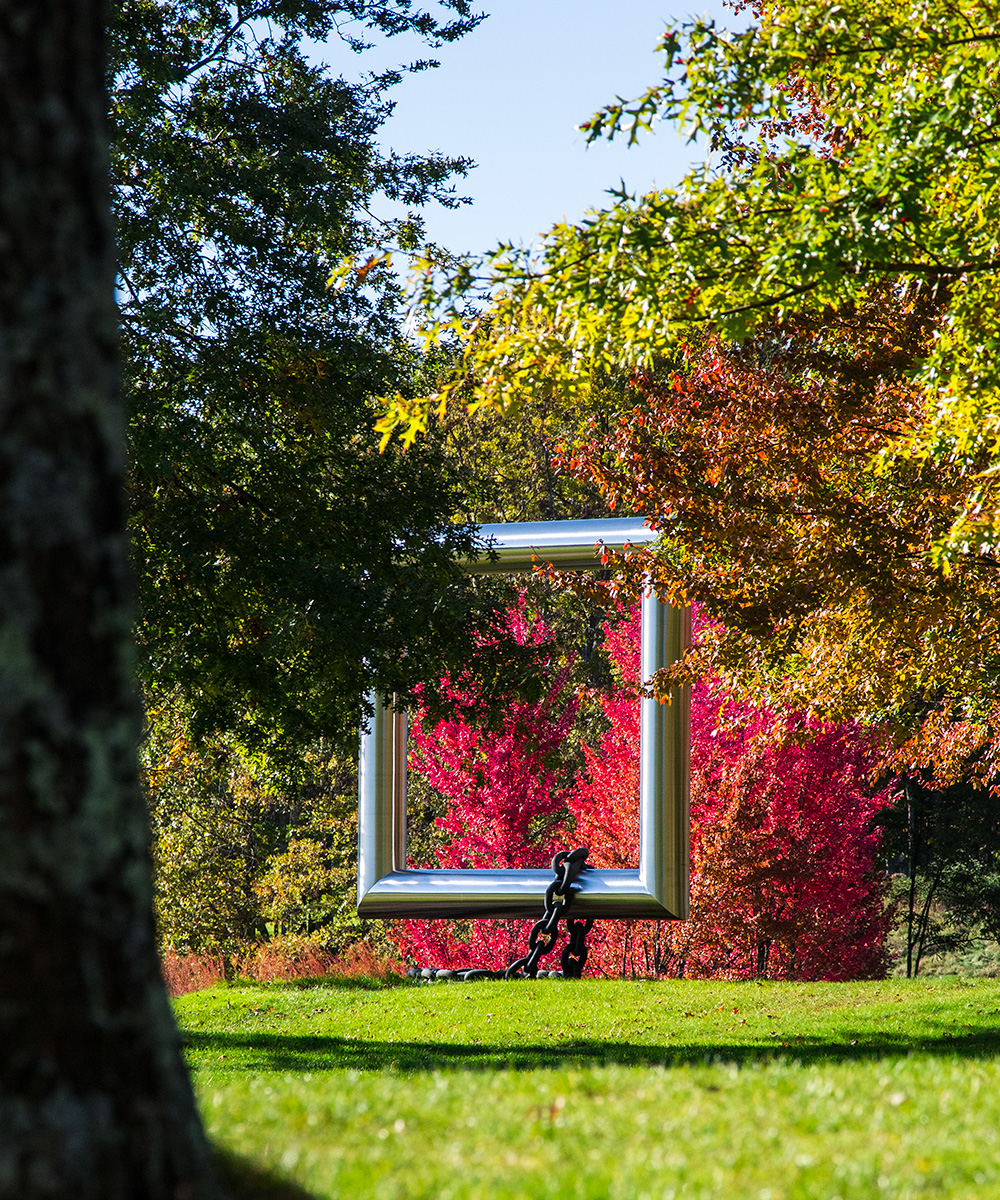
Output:
[[[520,646],[544,648],[551,631],[527,613],[523,599],[507,616],[507,636]],[[555,764],[576,715],[568,695],[568,670],[553,674],[538,703],[511,700],[495,732],[475,726],[478,697],[468,684],[448,684],[461,715],[426,727],[418,714],[411,727],[409,770],[424,775],[449,800],[438,824],[449,839],[435,864],[444,868],[547,866],[564,823],[570,791]],[[505,967],[525,953],[531,922],[399,922],[393,937],[408,960],[421,966]]]

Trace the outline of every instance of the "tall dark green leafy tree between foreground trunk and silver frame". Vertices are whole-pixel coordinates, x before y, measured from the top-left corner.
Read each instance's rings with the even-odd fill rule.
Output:
[[[372,205],[460,203],[468,161],[382,152],[400,72],[351,83],[306,54],[369,31],[436,46],[480,19],[437,11],[121,0],[112,22],[140,668],[196,732],[286,764],[353,739],[369,686],[437,678],[477,624],[447,466],[379,456],[371,432],[372,395],[413,361],[383,252],[421,236]],[[348,256],[365,265],[329,287]]]

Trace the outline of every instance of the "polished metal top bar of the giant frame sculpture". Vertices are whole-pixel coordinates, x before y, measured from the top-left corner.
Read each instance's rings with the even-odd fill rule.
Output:
[[[480,526],[479,542],[496,558],[483,553],[462,564],[474,575],[497,571],[529,571],[533,565],[552,563],[564,570],[600,566],[600,545],[609,550],[642,546],[657,534],[642,517],[594,521],[522,521]]]

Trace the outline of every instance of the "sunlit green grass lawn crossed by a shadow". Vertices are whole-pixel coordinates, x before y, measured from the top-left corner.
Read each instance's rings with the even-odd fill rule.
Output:
[[[329,982],[176,1010],[209,1133],[274,1195],[1000,1198],[1000,980]]]

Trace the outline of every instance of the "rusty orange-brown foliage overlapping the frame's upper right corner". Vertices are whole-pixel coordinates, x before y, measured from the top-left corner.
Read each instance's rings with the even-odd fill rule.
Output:
[[[966,484],[959,466],[873,468],[920,419],[909,374],[933,307],[886,292],[742,346],[703,338],[634,376],[611,436],[567,462],[664,532],[633,556],[634,586],[652,572],[713,617],[675,678],[891,725],[890,763],[947,784],[974,755],[980,778],[995,769],[995,569],[982,557],[948,575],[933,565]]]

